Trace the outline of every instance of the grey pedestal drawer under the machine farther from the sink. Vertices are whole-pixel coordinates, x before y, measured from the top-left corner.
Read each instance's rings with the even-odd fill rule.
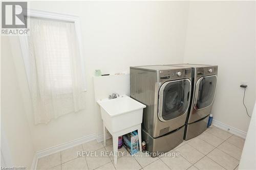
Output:
[[[186,124],[184,139],[189,140],[203,133],[207,129],[208,119],[209,119],[209,115],[199,120],[198,122],[194,122],[192,124]]]

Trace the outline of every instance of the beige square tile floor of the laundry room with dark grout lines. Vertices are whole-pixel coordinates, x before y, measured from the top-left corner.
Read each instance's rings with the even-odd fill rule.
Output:
[[[113,151],[112,139],[107,140],[106,147],[90,141],[38,159],[37,169],[237,169],[243,145],[244,139],[212,127],[168,152],[176,157],[166,154],[152,158],[145,153],[132,157],[122,147],[119,151],[124,155],[120,154],[114,165],[112,155],[78,157],[77,151],[95,151],[92,153],[96,155]]]

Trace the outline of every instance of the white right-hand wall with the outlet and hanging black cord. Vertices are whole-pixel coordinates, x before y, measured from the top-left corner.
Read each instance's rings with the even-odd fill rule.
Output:
[[[184,62],[218,65],[214,119],[247,132],[255,101],[255,2],[189,3]]]

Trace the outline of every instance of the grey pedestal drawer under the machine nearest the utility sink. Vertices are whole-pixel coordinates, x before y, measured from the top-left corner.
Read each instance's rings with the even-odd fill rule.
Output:
[[[144,130],[141,132],[142,140],[146,141],[146,150],[150,152],[152,157],[156,157],[157,154],[168,152],[177,147],[183,141],[184,131],[185,126],[157,138],[153,138]]]

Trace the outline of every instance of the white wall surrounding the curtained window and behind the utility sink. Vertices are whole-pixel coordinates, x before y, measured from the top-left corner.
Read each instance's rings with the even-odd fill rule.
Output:
[[[49,124],[34,125],[22,56],[17,38],[12,38],[17,77],[35,151],[90,134],[103,134],[94,100],[95,69],[113,74],[129,72],[131,65],[183,61],[187,2],[37,1],[30,2],[30,8],[80,17],[87,76],[86,110],[59,117]]]

